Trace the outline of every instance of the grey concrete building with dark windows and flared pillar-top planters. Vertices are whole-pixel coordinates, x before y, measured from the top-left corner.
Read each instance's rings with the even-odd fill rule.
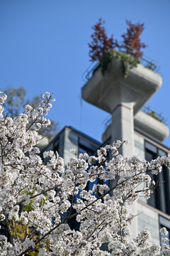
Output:
[[[148,161],[169,154],[170,149],[162,144],[169,135],[168,127],[159,118],[155,119],[152,113],[141,111],[161,85],[161,76],[140,64],[130,69],[128,78],[123,78],[121,60],[115,58],[104,75],[97,68],[82,88],[82,97],[92,105],[111,113],[112,120],[103,133],[103,143],[128,139],[128,146],[123,146],[120,154],[139,154]],[[67,163],[69,149],[94,154],[99,146],[101,144],[96,140],[72,127],[65,127],[46,150],[57,150]],[[148,201],[141,197],[133,207],[137,218],[132,225],[132,233],[135,236],[147,227],[152,234],[152,242],[159,243],[159,228],[165,226],[170,230],[169,170],[164,168],[159,176],[153,178],[156,182],[164,183],[154,190]]]

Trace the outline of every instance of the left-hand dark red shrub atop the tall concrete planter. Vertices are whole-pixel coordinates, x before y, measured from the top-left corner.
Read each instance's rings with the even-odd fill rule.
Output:
[[[94,33],[91,35],[93,41],[89,43],[89,56],[91,61],[101,60],[103,55],[115,46],[113,36],[108,38],[104,26],[102,26],[103,23],[105,23],[105,21],[99,18],[99,21],[92,27],[94,29]]]

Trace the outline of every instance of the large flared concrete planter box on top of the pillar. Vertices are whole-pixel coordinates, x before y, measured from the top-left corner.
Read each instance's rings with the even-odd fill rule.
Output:
[[[136,114],[161,87],[162,78],[140,64],[130,69],[128,78],[123,78],[122,70],[122,61],[115,58],[104,75],[98,68],[82,88],[83,99],[109,113],[119,104],[132,103]]]

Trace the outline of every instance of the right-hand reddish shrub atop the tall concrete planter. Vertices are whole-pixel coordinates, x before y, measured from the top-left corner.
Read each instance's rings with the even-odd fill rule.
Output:
[[[144,23],[135,23],[126,21],[128,28],[127,32],[123,34],[123,46],[125,46],[125,53],[132,55],[135,58],[142,57],[141,48],[145,48],[145,43],[141,43],[140,36],[144,30]]]

